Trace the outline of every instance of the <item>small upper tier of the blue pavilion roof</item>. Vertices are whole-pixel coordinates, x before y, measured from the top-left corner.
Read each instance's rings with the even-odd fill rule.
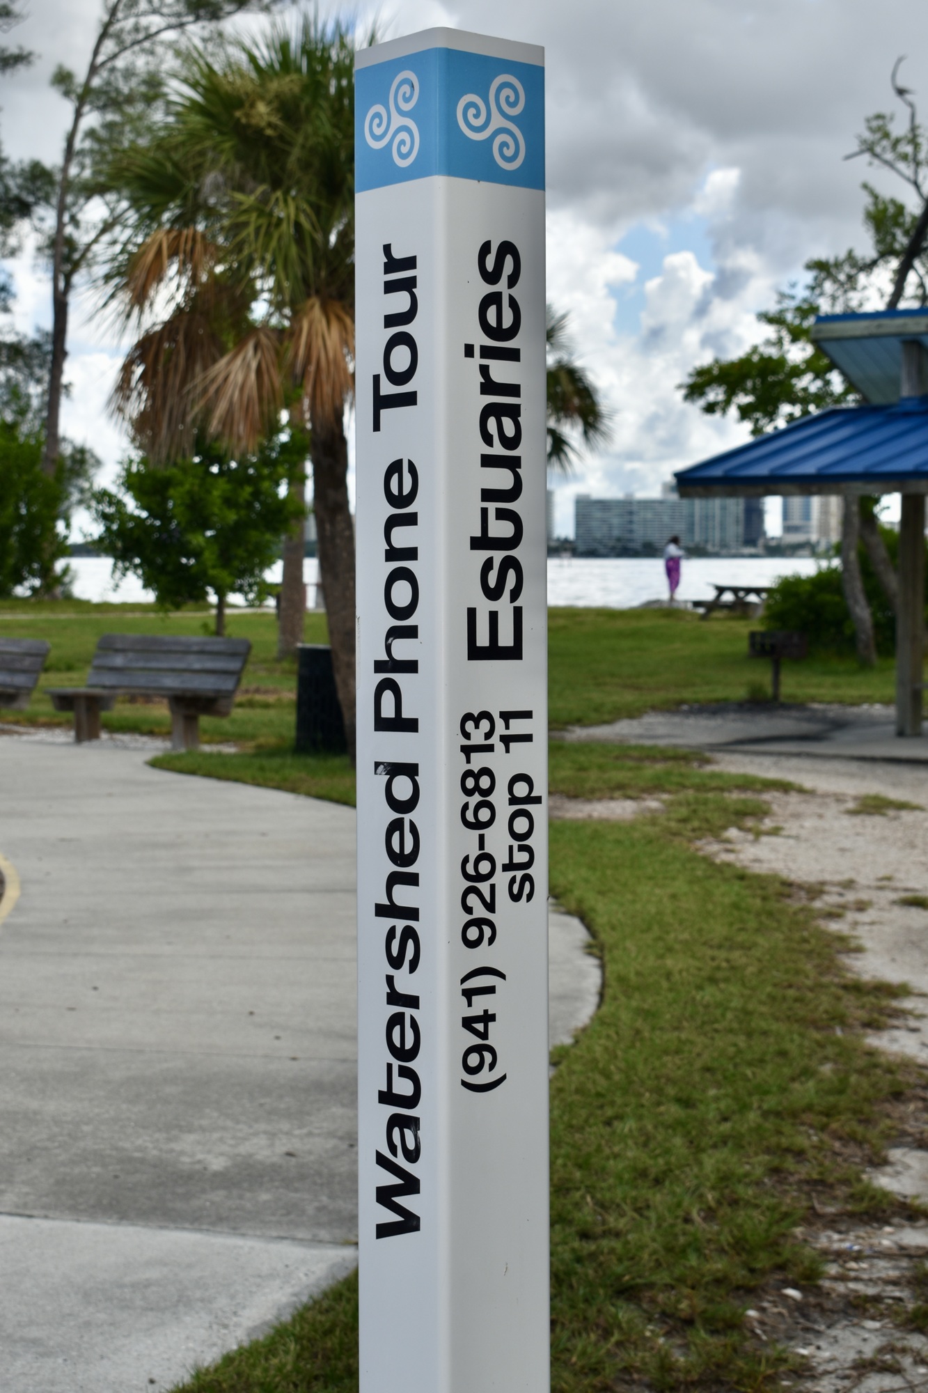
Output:
[[[903,343],[928,348],[928,309],[819,315],[811,337],[865,401],[888,405],[899,401]],[[921,390],[928,391],[924,361],[922,354]]]

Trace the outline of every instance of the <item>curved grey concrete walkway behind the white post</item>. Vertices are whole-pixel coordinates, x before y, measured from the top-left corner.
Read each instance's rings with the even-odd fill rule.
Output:
[[[0,738],[17,1393],[169,1387],[354,1262],[354,809],[146,754]],[[552,917],[556,1039],[595,1009],[584,937]]]

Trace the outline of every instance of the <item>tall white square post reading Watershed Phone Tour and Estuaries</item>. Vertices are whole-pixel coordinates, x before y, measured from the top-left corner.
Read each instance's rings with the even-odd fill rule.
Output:
[[[543,53],[357,54],[362,1393],[545,1393]]]

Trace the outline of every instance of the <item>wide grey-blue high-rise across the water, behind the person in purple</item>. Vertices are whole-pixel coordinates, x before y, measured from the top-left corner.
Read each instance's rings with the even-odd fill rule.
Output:
[[[680,499],[665,486],[660,499],[575,500],[577,556],[641,556],[660,552],[670,536],[683,547],[725,553],[744,546],[744,499]]]

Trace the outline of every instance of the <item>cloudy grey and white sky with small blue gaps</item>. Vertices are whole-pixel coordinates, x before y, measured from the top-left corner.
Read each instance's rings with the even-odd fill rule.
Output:
[[[28,10],[10,38],[40,57],[0,82],[0,134],[10,155],[52,162],[67,107],[49,74],[84,67],[100,0]],[[577,492],[654,495],[744,436],[677,384],[757,338],[754,313],[804,260],[861,244],[868,171],[843,156],[865,114],[892,109],[900,54],[928,117],[924,0],[383,0],[353,13],[386,38],[454,25],[546,49],[549,298],[570,311],[614,418],[609,447],[559,485],[563,534]],[[20,327],[47,325],[45,269],[25,255],[14,274]],[[109,472],[124,447],[106,415],[118,345],[89,299],[70,351],[65,428]]]

